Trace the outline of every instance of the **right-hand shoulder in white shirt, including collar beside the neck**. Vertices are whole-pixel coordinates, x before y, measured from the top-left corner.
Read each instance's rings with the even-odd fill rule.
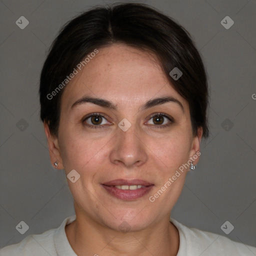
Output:
[[[256,247],[232,241],[223,235],[187,227],[172,218],[170,221],[179,231],[179,250],[177,256],[256,255]]]

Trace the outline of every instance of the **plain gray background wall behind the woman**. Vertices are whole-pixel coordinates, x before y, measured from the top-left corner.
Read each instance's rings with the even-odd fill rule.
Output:
[[[64,171],[51,166],[39,121],[39,73],[59,28],[104,2],[114,1],[0,1],[0,247],[74,214]],[[158,8],[190,32],[211,88],[210,137],[171,216],[256,246],[255,0],[136,2]],[[29,21],[23,30],[15,24],[21,15]],[[220,23],[226,15],[234,20],[229,29]],[[15,229],[21,220],[29,226],[23,235]],[[234,226],[228,235],[220,229],[226,220]]]

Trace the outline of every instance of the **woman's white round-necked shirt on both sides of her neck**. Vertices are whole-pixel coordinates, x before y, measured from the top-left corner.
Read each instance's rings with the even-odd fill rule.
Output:
[[[77,256],[65,233],[65,225],[75,220],[70,216],[58,228],[41,234],[30,234],[19,243],[0,249],[0,256]],[[255,256],[256,247],[234,242],[225,236],[189,228],[173,218],[170,221],[179,232],[177,256]]]

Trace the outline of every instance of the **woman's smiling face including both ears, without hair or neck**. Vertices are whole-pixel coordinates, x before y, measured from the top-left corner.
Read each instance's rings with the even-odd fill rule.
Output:
[[[76,215],[116,230],[126,221],[139,230],[169,220],[188,171],[180,166],[199,150],[201,130],[192,135],[188,103],[152,56],[124,44],[98,50],[63,91],[58,137],[45,125],[50,156],[66,174],[80,175],[67,179]],[[171,100],[154,100],[162,97]],[[142,183],[152,185],[113,187]]]

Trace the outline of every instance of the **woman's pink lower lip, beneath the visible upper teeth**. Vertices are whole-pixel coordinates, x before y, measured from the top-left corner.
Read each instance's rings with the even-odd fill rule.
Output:
[[[103,186],[109,194],[123,200],[135,200],[139,197],[142,197],[143,195],[147,194],[153,187],[153,185],[149,185],[146,187],[137,188],[135,190],[123,190],[114,186],[107,186],[104,184],[101,184],[101,186]]]

